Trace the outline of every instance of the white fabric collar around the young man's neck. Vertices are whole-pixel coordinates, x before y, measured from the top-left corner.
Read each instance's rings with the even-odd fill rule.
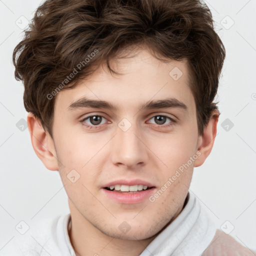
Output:
[[[62,221],[59,221],[62,224],[57,228],[62,229],[69,256],[75,256],[68,236],[70,220],[69,213],[62,218]],[[176,256],[181,253],[184,256],[199,255],[209,245],[215,231],[214,223],[200,207],[196,197],[188,192],[186,204],[179,215],[147,245],[139,256],[152,254],[154,256]]]

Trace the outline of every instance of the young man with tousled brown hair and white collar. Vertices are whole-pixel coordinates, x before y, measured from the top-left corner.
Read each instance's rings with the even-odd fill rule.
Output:
[[[199,0],[39,6],[14,49],[15,77],[34,151],[58,170],[70,214],[39,224],[20,254],[253,255],[188,192],[216,135],[224,56]]]

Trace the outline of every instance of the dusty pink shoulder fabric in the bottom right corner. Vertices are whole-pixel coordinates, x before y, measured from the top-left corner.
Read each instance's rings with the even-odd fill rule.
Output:
[[[216,230],[215,236],[202,256],[255,256],[252,250],[242,246],[231,235]]]

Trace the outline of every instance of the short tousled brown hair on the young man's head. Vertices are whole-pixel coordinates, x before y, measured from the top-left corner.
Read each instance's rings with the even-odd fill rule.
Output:
[[[25,87],[25,109],[52,136],[55,97],[47,95],[57,87],[73,88],[95,70],[95,63],[106,63],[115,72],[109,60],[124,47],[141,43],[163,58],[187,60],[202,134],[217,109],[213,100],[225,49],[200,0],[46,0],[13,51],[15,78]],[[73,78],[65,80],[74,69]]]

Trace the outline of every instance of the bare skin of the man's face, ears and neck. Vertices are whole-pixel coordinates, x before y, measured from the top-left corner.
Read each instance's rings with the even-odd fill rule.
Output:
[[[185,60],[164,63],[147,49],[139,49],[130,58],[112,59],[110,65],[122,74],[112,75],[100,66],[75,88],[56,95],[53,138],[31,113],[27,117],[35,153],[47,169],[59,171],[68,195],[69,237],[78,255],[139,255],[182,210],[193,167],[204,162],[216,135],[217,111],[212,112],[203,135],[198,135]],[[174,67],[183,73],[176,81],[169,75]],[[68,110],[83,96],[111,102],[117,110]],[[139,109],[148,100],[167,97],[182,101],[187,110]],[[154,118],[161,114],[176,122],[166,118],[161,124]],[[98,128],[82,124],[93,126],[89,118],[83,120],[89,115],[104,117]],[[123,118],[131,124],[126,131],[118,126]],[[121,204],[102,192],[103,184],[119,178],[146,180],[157,191],[198,151],[200,156],[154,202]],[[80,175],[74,183],[67,178],[72,169]],[[123,221],[131,227],[126,233],[118,228]]]

